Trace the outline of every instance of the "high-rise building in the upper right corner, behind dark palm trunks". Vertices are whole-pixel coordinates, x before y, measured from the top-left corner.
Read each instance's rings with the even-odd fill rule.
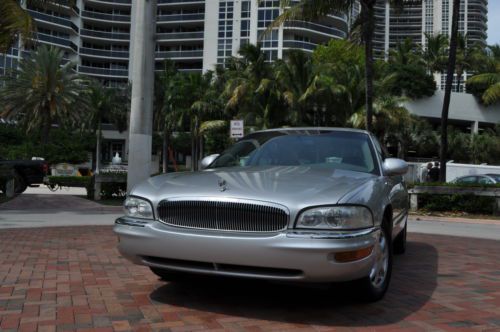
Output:
[[[406,38],[425,47],[425,34],[449,36],[451,33],[453,0],[422,0],[409,3],[403,9],[391,7],[388,1],[378,1],[375,9],[374,50],[380,58],[386,57],[391,48]],[[469,45],[486,45],[487,22],[488,0],[461,0],[458,28],[460,34],[467,36]],[[438,86],[443,87],[446,75],[436,73],[435,78]]]

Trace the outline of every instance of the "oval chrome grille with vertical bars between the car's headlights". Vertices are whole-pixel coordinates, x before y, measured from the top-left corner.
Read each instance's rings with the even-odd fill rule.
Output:
[[[158,218],[172,226],[236,232],[275,232],[288,225],[284,209],[243,202],[165,200]]]

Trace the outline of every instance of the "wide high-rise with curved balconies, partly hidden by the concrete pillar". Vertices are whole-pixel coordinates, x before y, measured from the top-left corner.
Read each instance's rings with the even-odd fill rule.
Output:
[[[36,21],[35,44],[62,48],[79,73],[114,86],[128,81],[131,1],[77,0],[73,7],[25,9]],[[349,15],[336,14],[287,22],[263,35],[280,12],[277,0],[158,0],[156,68],[170,59],[183,71],[213,69],[246,43],[260,43],[271,61],[289,49],[310,52],[332,38],[345,38],[349,30]],[[32,47],[18,42],[0,55],[0,75]]]

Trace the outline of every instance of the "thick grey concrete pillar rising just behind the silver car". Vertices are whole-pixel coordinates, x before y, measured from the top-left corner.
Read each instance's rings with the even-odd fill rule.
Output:
[[[156,0],[132,1],[131,19],[128,192],[151,175]]]

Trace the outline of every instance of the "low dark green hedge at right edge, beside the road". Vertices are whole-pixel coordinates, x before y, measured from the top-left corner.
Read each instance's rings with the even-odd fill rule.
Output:
[[[473,194],[419,194],[418,206],[428,211],[461,211],[476,214],[495,213],[496,198]]]

